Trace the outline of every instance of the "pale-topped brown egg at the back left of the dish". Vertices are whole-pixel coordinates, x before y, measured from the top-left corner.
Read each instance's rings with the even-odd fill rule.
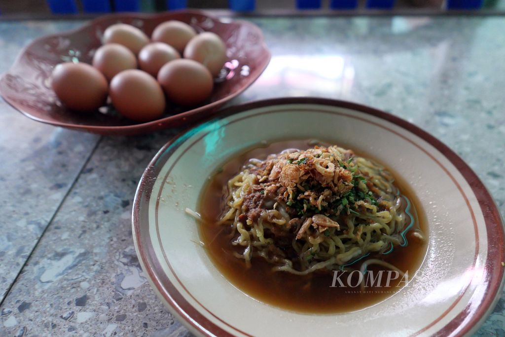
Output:
[[[140,29],[124,23],[109,26],[104,32],[104,44],[119,43],[137,55],[149,38]]]

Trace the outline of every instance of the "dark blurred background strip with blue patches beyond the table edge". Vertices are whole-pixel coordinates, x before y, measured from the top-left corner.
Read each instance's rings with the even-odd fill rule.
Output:
[[[505,0],[2,0],[0,19],[110,12],[161,12],[184,8],[250,14],[437,14],[456,11],[503,13]]]

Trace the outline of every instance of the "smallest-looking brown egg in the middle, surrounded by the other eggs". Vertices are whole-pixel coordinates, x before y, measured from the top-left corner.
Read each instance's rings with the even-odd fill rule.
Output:
[[[165,63],[180,58],[181,55],[174,47],[163,42],[149,43],[138,53],[140,69],[154,77],[158,75]]]

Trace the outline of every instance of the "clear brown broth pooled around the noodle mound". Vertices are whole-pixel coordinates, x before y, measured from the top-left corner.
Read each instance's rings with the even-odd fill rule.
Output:
[[[326,145],[324,142],[320,142],[320,144]],[[309,140],[275,142],[246,151],[227,161],[219,173],[211,175],[209,183],[200,196],[198,211],[204,219],[199,228],[200,237],[218,270],[239,290],[252,298],[287,310],[304,313],[339,313],[360,310],[396,293],[401,286],[405,285],[405,282],[399,284],[400,278],[398,278],[391,281],[390,287],[384,287],[386,280],[386,274],[384,274],[381,287],[369,286],[362,293],[359,286],[331,287],[333,274],[315,272],[300,276],[288,272],[273,272],[272,265],[261,258],[253,258],[251,267],[247,268],[244,260],[233,255],[233,252],[241,253],[243,247],[233,246],[230,228],[217,224],[225,208],[223,186],[226,186],[227,181],[241,170],[247,160],[251,158],[263,160],[268,155],[279,153],[285,149],[306,150],[310,147]],[[356,151],[355,153],[365,158],[371,158],[363,153]],[[401,194],[409,198],[412,203],[411,214],[416,221],[414,227],[421,229],[426,237],[426,220],[419,200],[408,185],[394,174],[394,171],[390,170],[390,172],[395,177],[395,185],[400,189]],[[377,254],[369,258],[379,258],[402,271],[408,270],[409,277],[412,278],[426,253],[425,242],[412,234],[413,231],[409,231],[406,235],[408,246],[395,247],[391,254]],[[355,268],[359,269],[361,262],[357,262],[355,265]],[[388,269],[370,266],[369,270],[373,270],[377,275],[379,270],[387,272]],[[355,285],[359,275],[354,273],[353,276],[355,277],[352,278],[351,284]],[[340,279],[345,284],[347,274],[343,274]],[[338,282],[335,284],[338,285]]]

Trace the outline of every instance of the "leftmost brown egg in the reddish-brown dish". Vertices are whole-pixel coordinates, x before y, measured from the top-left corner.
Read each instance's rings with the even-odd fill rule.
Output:
[[[86,63],[61,63],[53,70],[51,85],[68,108],[92,111],[105,105],[107,79]]]

